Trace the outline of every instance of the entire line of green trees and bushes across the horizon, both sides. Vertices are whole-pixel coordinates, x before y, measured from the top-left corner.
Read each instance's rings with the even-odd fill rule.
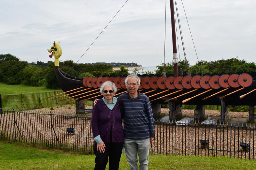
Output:
[[[113,70],[113,65],[117,63],[80,63],[76,64],[72,60],[60,62],[59,66],[67,74],[83,78],[84,76],[100,77],[103,75],[125,75],[129,74],[124,65],[120,65],[121,70]],[[123,63],[122,63],[123,64]],[[129,64],[136,63],[127,63]],[[137,64],[136,64],[137,65]],[[247,63],[245,60],[239,60],[238,57],[227,60],[217,61],[199,61],[196,65],[190,65],[188,62],[181,60],[178,63],[179,70],[182,73],[198,74],[200,68],[203,73],[236,73],[236,72],[255,72],[255,63]],[[162,74],[165,68],[166,75],[173,74],[172,63],[161,63],[157,66],[156,72],[146,71],[144,74]],[[138,71],[138,70],[137,70]],[[136,73],[136,70],[133,72]],[[7,84],[24,84],[30,86],[46,86],[47,88],[59,88],[54,69],[54,62],[47,63],[37,61],[28,63],[11,54],[0,55],[0,82]]]

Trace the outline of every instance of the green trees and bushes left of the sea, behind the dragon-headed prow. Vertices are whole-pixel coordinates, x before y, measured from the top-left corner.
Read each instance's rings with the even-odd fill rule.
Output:
[[[124,75],[128,70],[121,65],[121,70],[113,70],[107,63],[76,64],[72,60],[59,62],[62,71],[74,77],[100,77],[103,75]],[[30,86],[45,86],[59,88],[54,69],[54,62],[37,61],[28,63],[11,54],[0,55],[0,82],[10,85],[24,84]]]

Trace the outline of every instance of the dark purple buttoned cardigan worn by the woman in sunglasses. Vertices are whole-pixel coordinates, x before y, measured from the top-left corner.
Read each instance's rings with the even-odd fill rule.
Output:
[[[110,110],[102,99],[92,109],[92,134],[93,137],[100,135],[104,143],[109,142],[110,129],[112,126],[112,142],[124,142],[124,128],[118,101]]]

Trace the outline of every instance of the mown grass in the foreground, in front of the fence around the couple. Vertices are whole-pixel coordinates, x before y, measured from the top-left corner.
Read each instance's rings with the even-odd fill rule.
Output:
[[[93,168],[94,155],[80,155],[0,141],[0,169]],[[125,154],[122,154],[119,169],[129,169]],[[228,157],[150,155],[148,169],[256,169],[256,161]]]

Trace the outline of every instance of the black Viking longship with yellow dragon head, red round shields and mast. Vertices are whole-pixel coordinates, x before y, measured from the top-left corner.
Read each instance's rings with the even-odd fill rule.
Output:
[[[255,106],[256,72],[178,75],[173,0],[170,0],[170,2],[174,74],[164,76],[159,74],[138,75],[141,80],[140,92],[146,94],[152,104],[168,103],[170,114],[181,108],[182,104],[197,106],[221,105],[220,114],[223,122],[227,122],[228,119],[226,116],[228,105]],[[60,88],[67,95],[66,99],[73,98],[72,100],[78,100],[79,102],[99,99],[102,97],[99,88],[105,81],[115,83],[118,88],[116,96],[127,92],[126,85],[124,84],[127,75],[72,77],[59,68],[59,57],[61,56],[59,43],[54,42],[54,45],[51,49],[48,49],[48,52],[52,52],[52,55],[55,56],[56,77]],[[177,117],[175,115],[170,116],[170,119],[174,118]]]

